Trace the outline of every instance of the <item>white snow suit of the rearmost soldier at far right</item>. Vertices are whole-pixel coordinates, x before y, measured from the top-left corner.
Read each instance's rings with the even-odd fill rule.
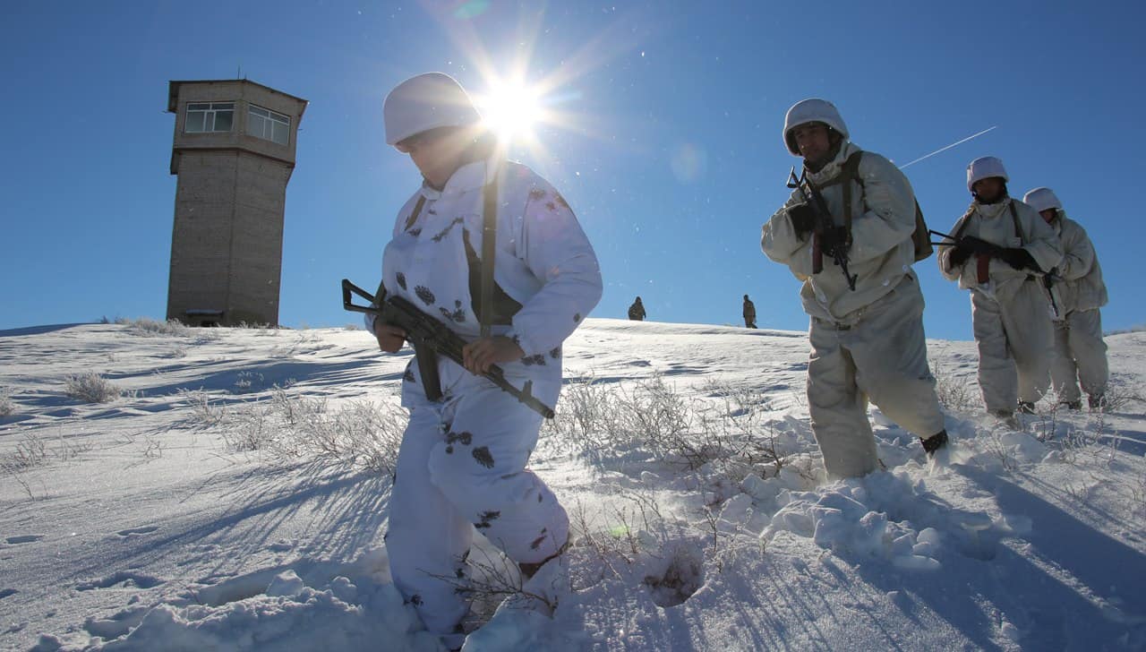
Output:
[[[1051,382],[1060,401],[1074,402],[1082,398],[1078,383],[1091,396],[1106,393],[1109,366],[1099,308],[1106,305],[1107,294],[1086,229],[1069,219],[1066,211],[1055,212],[1051,226],[1062,241],[1063,254],[1057,270],[1061,281],[1051,290],[1059,305]]]

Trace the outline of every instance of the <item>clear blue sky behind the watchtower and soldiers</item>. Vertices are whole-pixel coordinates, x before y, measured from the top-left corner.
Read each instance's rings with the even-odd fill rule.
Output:
[[[934,5],[934,6],[933,6]],[[713,7],[720,7],[714,9]],[[822,96],[853,141],[910,166],[928,223],[966,209],[965,166],[1003,158],[1015,196],[1050,186],[1098,249],[1107,330],[1146,322],[1144,9],[1131,2],[62,2],[9,1],[0,329],[163,317],[175,178],[171,79],[251,80],[309,100],[286,190],[281,321],[343,325],[338,281],[371,286],[394,213],[417,188],[387,148],[382,100],[418,72],[472,92],[484,52],[580,126],[518,151],[568,198],[621,317],[806,329],[798,282],[760,226],[798,163],[784,113]],[[967,293],[917,266],[931,337],[971,338]]]

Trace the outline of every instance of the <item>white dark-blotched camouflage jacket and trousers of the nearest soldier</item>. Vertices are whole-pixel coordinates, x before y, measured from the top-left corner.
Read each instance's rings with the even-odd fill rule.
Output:
[[[471,261],[481,252],[486,163],[458,168],[441,191],[423,186],[398,214],[383,257],[386,291],[414,303],[462,336],[479,335]],[[562,341],[601,299],[597,257],[562,196],[532,170],[499,173],[493,335],[525,352],[501,364],[517,387],[554,407]],[[424,199],[424,201],[423,201]],[[421,210],[415,209],[422,204]],[[479,284],[472,285],[473,294]],[[516,311],[516,312],[513,312]],[[509,319],[509,315],[512,315]],[[372,319],[367,320],[372,332]],[[394,583],[426,629],[450,634],[468,604],[455,591],[474,528],[517,563],[554,555],[568,517],[526,463],[541,416],[490,382],[441,359],[444,399],[431,402],[411,360],[402,384],[410,419],[398,455],[386,548]]]

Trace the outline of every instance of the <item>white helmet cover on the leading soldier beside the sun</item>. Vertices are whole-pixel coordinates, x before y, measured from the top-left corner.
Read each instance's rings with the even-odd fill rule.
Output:
[[[382,115],[391,146],[438,127],[481,121],[462,85],[444,72],[426,72],[395,86],[383,102]]]

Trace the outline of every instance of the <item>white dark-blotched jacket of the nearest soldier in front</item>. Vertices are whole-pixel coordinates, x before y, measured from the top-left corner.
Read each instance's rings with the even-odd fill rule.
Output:
[[[568,204],[544,179],[518,163],[507,163],[497,179],[494,281],[520,309],[511,324],[495,325],[493,332],[513,338],[526,364],[531,359],[556,359],[548,367],[559,377],[562,341],[601,299],[597,256]],[[486,163],[477,162],[458,168],[440,191],[423,184],[399,211],[383,256],[386,291],[410,300],[466,340],[480,330],[474,316],[479,298],[470,292],[470,258],[481,256],[485,180]],[[369,315],[367,327],[372,331]]]

